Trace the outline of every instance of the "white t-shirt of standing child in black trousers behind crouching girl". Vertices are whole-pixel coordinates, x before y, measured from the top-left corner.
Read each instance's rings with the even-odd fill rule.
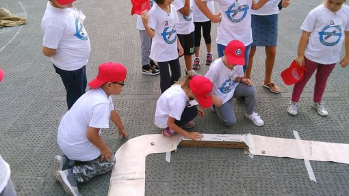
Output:
[[[167,13],[155,4],[148,14],[148,26],[155,30],[149,57],[157,62],[177,59],[177,29],[174,25],[178,23],[176,8],[170,5],[170,13]]]

